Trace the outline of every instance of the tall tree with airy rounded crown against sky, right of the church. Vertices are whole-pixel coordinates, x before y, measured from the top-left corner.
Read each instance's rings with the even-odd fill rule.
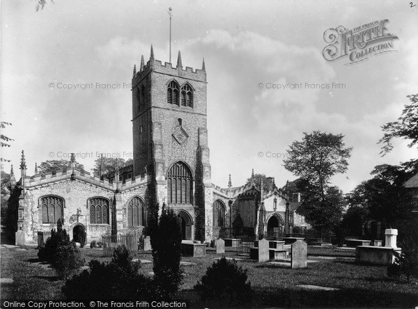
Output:
[[[290,145],[284,168],[294,175],[308,180],[320,189],[322,200],[330,178],[336,173],[345,173],[352,148],[345,148],[343,135],[314,131],[304,132],[302,141]]]

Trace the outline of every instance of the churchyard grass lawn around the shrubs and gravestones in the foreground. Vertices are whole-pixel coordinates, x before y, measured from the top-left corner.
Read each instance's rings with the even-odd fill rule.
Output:
[[[13,251],[1,248],[1,277],[13,278],[12,285],[2,285],[3,299],[60,299],[63,281],[56,278],[53,269],[39,264],[37,250]],[[82,248],[84,258],[109,260],[102,256],[102,251]],[[314,255],[340,254],[334,248],[316,248],[309,246],[307,269],[289,269],[286,267],[260,264],[249,258],[227,251],[225,256],[239,258],[238,266],[247,269],[255,294],[249,304],[251,308],[279,307],[331,307],[331,308],[415,308],[418,306],[418,285],[398,282],[386,276],[386,267],[355,264],[353,253],[343,252],[345,258],[321,258]],[[348,255],[351,255],[348,256]],[[183,258],[185,262],[195,263],[184,266],[185,277],[178,292],[178,299],[190,299],[192,308],[204,308],[199,301],[199,294],[193,287],[205,274],[206,269],[218,258],[215,251],[208,249],[206,258]],[[150,253],[141,252],[140,260],[151,260]],[[140,271],[148,274],[153,264],[142,264]],[[319,285],[336,287],[340,290],[318,291],[302,290],[296,285]],[[212,308],[212,307],[211,307]]]

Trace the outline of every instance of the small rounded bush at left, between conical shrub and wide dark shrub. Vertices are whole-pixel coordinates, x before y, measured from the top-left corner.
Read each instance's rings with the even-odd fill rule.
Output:
[[[75,246],[75,242],[70,242],[56,249],[56,256],[52,267],[60,278],[68,278],[76,269],[84,265],[84,258]]]

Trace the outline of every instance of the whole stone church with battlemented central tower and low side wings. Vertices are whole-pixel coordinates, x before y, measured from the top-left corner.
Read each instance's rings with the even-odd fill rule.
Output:
[[[38,231],[63,227],[77,241],[109,235],[147,234],[152,207],[167,205],[181,220],[183,239],[209,242],[236,235],[283,235],[294,225],[306,228],[295,212],[300,196],[289,198],[272,177],[267,189],[254,182],[220,188],[210,181],[206,68],[175,68],[150,58],[132,77],[133,165],[119,168],[113,180],[71,166],[56,173],[27,175],[24,152],[21,177],[11,171],[9,203],[17,208],[20,243],[36,244]],[[17,205],[18,204],[18,205]]]

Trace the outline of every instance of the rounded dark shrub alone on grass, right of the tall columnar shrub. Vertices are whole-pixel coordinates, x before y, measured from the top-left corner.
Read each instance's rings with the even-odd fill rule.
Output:
[[[251,283],[247,283],[247,270],[238,267],[235,260],[229,261],[226,258],[208,267],[194,289],[201,292],[203,301],[228,305],[249,303],[253,294]]]

